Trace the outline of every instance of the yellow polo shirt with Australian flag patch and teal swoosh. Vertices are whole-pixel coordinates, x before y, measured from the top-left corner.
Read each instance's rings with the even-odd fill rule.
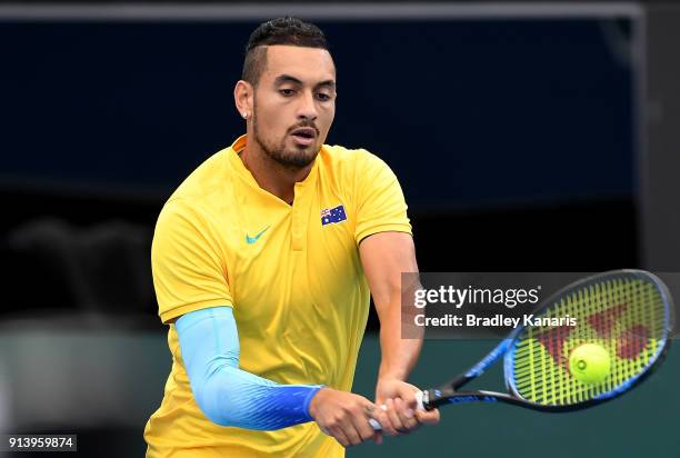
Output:
[[[151,261],[160,318],[232,307],[241,369],[351,391],[370,295],[358,245],[411,232],[399,182],[366,150],[323,146],[291,206],[243,166],[246,141],[203,162],[159,216]],[[173,323],[168,345],[172,370],[144,429],[148,458],[344,455],[313,421],[277,431],[211,422],[191,394]]]

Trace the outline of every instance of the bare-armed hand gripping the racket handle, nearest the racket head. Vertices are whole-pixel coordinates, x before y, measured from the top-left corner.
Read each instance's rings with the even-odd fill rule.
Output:
[[[382,426],[382,430],[391,436],[408,434],[420,425],[439,422],[439,410],[418,409],[417,387],[397,378],[380,378],[376,387],[376,405],[373,417]]]

